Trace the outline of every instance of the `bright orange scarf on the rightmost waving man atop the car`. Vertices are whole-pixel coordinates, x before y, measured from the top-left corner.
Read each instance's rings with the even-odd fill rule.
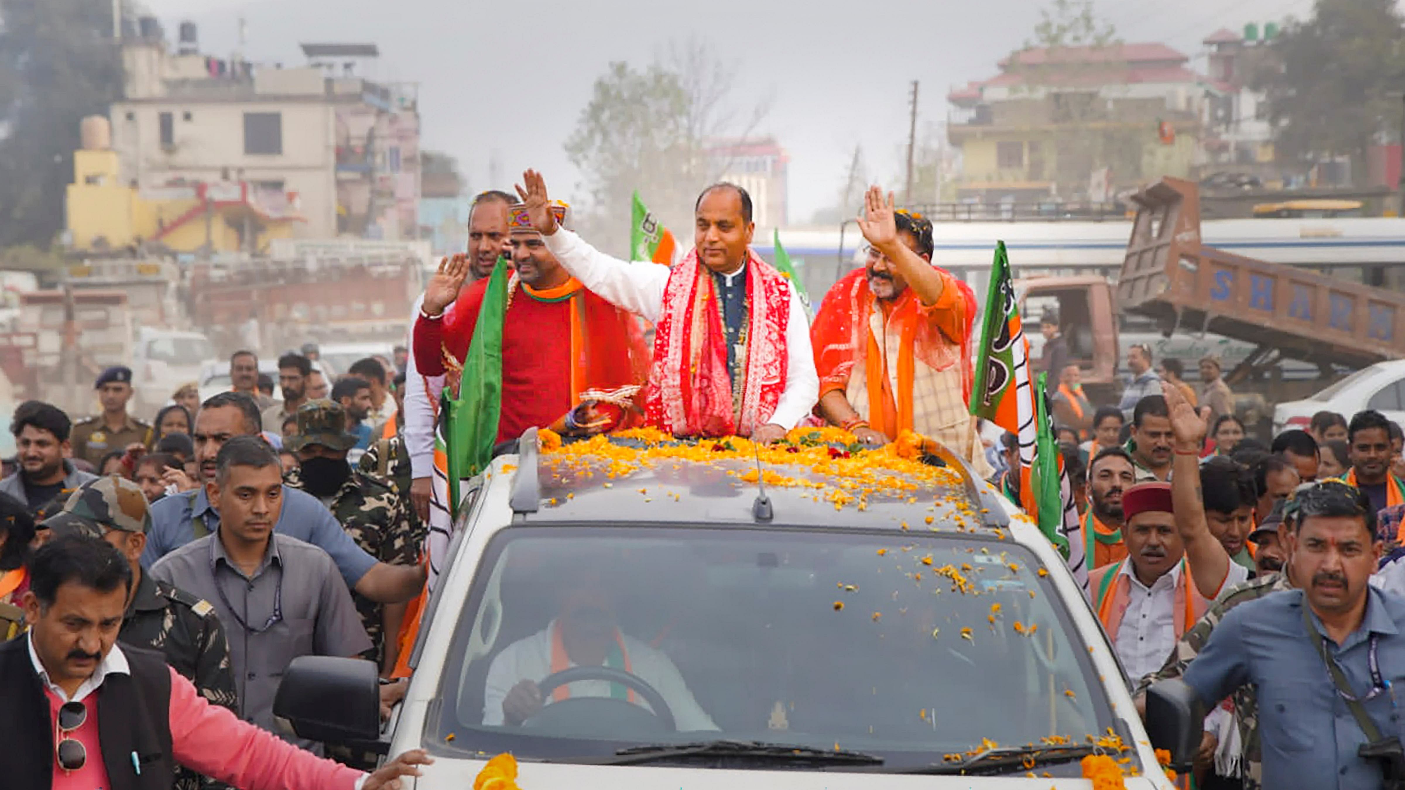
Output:
[[[961,391],[971,392],[971,326],[975,320],[975,292],[960,280],[955,299],[964,308],[965,332],[961,337],[947,337],[923,311],[926,308],[909,287],[899,295],[887,315],[887,325],[899,336],[898,392],[892,392],[887,371],[887,356],[868,326],[873,311],[881,309],[868,288],[867,268],[856,268],[844,276],[819,306],[811,339],[815,347],[815,368],[819,374],[819,394],[846,389],[857,365],[864,367],[868,389],[868,425],[887,436],[913,430],[913,365],[922,363],[944,371],[961,365]],[[946,301],[946,299],[943,299]],[[934,305],[939,306],[940,305]]]

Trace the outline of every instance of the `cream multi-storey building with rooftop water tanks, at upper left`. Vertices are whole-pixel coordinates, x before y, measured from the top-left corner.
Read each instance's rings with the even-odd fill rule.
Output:
[[[140,193],[239,184],[294,207],[301,238],[416,238],[416,86],[362,76],[372,44],[302,51],[308,65],[287,69],[219,59],[200,53],[192,22],[174,51],[155,20],[143,24],[122,42],[124,97],[111,108],[121,177]]]

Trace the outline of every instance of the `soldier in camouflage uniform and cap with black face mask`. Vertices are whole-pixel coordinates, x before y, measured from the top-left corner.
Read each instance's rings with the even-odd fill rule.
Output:
[[[346,410],[332,401],[303,403],[298,409],[298,432],[287,443],[298,457],[298,468],[284,475],[285,482],[316,496],[371,557],[392,565],[414,565],[419,547],[409,507],[391,485],[351,471],[347,451],[357,437],[347,432],[346,422]],[[360,593],[353,600],[372,642],[364,658],[375,661],[381,675],[389,678],[405,604],[382,607]]]

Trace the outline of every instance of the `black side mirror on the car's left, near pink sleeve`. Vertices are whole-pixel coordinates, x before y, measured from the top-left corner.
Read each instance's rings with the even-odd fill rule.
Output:
[[[280,727],[326,744],[381,737],[381,687],[375,663],[360,658],[299,655],[273,699]]]

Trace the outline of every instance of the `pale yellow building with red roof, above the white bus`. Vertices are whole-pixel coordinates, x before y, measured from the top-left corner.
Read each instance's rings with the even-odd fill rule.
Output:
[[[1106,201],[1200,156],[1205,79],[1162,44],[1030,48],[953,90],[957,195],[982,202]]]

